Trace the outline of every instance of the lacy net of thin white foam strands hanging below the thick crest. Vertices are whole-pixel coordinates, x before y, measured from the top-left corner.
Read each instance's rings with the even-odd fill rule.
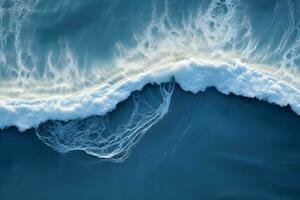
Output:
[[[109,115],[92,116],[68,122],[48,121],[36,129],[41,141],[54,150],[66,153],[83,150],[106,161],[122,162],[141,137],[169,110],[174,81],[160,86],[158,105],[134,94],[129,120],[109,130]]]

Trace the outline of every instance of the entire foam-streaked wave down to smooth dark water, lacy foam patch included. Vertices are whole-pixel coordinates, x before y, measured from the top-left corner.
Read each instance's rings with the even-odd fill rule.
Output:
[[[299,10],[291,0],[0,0],[0,128],[34,127],[59,152],[120,161],[165,115],[173,83],[151,109],[133,97],[130,120],[107,136],[108,113],[172,78],[300,114]]]

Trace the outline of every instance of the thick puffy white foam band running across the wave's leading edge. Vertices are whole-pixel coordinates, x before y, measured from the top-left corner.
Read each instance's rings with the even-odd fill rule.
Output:
[[[280,106],[290,105],[300,115],[299,89],[271,73],[240,62],[210,63],[191,59],[123,79],[108,85],[110,89],[106,93],[95,90],[64,98],[1,99],[0,127],[16,126],[24,131],[49,119],[70,120],[105,115],[133,91],[141,90],[148,83],[168,82],[172,77],[185,91],[197,93],[208,87],[215,87],[223,94],[233,93]]]

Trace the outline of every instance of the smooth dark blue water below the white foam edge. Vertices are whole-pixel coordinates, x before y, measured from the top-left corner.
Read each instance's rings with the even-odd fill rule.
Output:
[[[173,97],[122,163],[57,153],[34,130],[1,131],[0,199],[300,198],[300,121],[288,107],[215,89],[193,95],[176,86]]]

